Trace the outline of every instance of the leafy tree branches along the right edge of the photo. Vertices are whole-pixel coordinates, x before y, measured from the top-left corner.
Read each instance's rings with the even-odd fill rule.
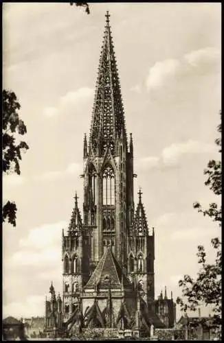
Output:
[[[221,134],[221,124],[218,126],[218,132]],[[221,152],[221,139],[216,139],[216,145],[219,146]],[[205,186],[210,187],[216,196],[221,196],[221,161],[209,161],[207,168],[204,170],[207,180]],[[194,203],[194,209],[199,213],[208,215],[212,221],[216,222],[221,227],[222,213],[221,206],[212,202],[208,209],[202,209],[199,202]],[[221,271],[222,271],[222,254],[221,241],[215,237],[211,241],[212,247],[216,250],[216,259],[210,264],[206,261],[206,252],[203,246],[198,246],[197,257],[200,265],[197,279],[193,279],[189,275],[184,275],[183,280],[179,281],[179,286],[182,287],[183,298],[187,298],[188,302],[184,303],[182,298],[177,298],[177,304],[181,306],[181,310],[188,309],[195,311],[201,304],[212,305],[214,311],[214,324],[221,324]]]

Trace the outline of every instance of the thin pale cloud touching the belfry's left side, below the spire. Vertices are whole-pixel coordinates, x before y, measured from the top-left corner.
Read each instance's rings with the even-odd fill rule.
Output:
[[[78,175],[82,171],[81,163],[70,163],[66,169],[59,171],[46,171],[43,175],[38,176],[38,179],[46,181],[63,180],[67,176]]]

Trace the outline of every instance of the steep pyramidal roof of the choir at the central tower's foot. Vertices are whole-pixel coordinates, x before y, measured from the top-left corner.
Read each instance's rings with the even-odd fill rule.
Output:
[[[111,287],[117,285],[121,286],[122,283],[124,287],[130,286],[128,279],[122,272],[120,264],[113,255],[111,246],[104,252],[104,255],[100,259],[85,288],[95,287],[99,284],[106,286],[109,285],[109,282]]]

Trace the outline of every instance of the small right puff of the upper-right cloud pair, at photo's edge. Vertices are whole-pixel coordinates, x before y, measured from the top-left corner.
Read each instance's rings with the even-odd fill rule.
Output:
[[[200,64],[216,62],[220,58],[220,52],[214,47],[191,51],[184,56],[185,60],[194,67]]]

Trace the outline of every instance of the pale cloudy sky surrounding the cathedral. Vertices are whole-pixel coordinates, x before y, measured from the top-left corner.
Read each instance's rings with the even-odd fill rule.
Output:
[[[3,3],[3,88],[19,99],[30,147],[21,176],[3,176],[3,203],[18,208],[16,228],[3,226],[3,317],[44,316],[51,281],[62,290],[61,230],[75,191],[82,210],[82,144],[107,10],[133,134],[135,203],[140,186],[155,227],[156,297],[165,285],[181,295],[179,279],[199,270],[199,244],[214,257],[219,228],[192,204],[219,201],[203,169],[219,158],[221,3],[91,3],[89,15],[69,3]]]

